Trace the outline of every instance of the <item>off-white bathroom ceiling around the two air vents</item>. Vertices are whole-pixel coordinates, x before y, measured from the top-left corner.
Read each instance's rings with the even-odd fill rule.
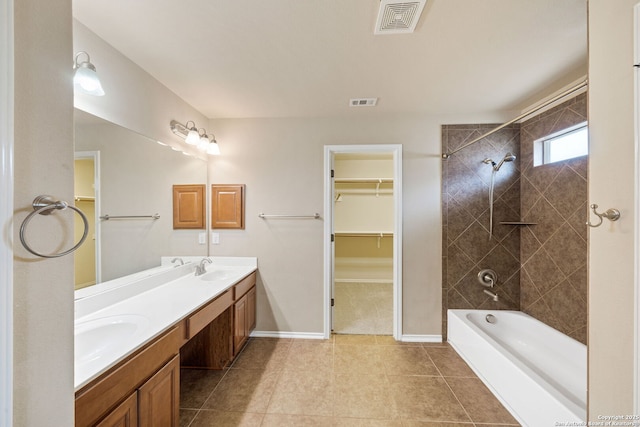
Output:
[[[209,118],[502,112],[586,74],[586,0],[428,0],[396,35],[373,34],[378,5],[73,0],[76,19]]]

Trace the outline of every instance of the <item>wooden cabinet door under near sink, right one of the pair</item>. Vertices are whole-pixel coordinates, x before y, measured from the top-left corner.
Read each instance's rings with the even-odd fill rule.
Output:
[[[179,407],[180,358],[176,356],[138,389],[138,425],[177,427]]]

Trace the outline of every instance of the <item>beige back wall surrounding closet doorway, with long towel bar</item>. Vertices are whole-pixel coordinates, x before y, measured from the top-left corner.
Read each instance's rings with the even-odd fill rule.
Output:
[[[258,257],[258,330],[323,328],[322,221],[265,221],[258,213],[323,212],[324,145],[402,144],[403,333],[440,335],[440,123],[456,119],[470,118],[211,121],[223,155],[210,162],[210,180],[247,185],[247,218],[243,231],[220,230],[210,252]]]

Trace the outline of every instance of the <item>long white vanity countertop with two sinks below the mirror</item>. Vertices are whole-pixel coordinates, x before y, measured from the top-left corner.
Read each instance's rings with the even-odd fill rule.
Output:
[[[189,257],[183,258],[186,262]],[[256,258],[211,259],[207,273],[221,271],[223,277],[195,276],[192,262],[76,299],[75,390],[257,269]]]

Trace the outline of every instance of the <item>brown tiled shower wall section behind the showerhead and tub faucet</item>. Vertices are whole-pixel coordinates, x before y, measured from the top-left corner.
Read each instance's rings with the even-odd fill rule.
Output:
[[[443,152],[449,152],[496,125],[445,125]],[[489,186],[492,167],[507,152],[517,156],[495,174],[494,228],[489,240]],[[501,221],[520,219],[520,126],[506,127],[451,156],[443,167],[443,336],[448,308],[520,309],[520,230]],[[483,293],[477,279],[493,269],[498,302]]]

